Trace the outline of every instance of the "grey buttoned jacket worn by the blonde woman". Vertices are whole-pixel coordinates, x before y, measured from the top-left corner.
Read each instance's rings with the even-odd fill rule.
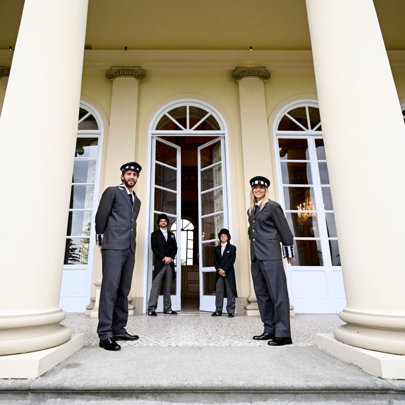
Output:
[[[263,203],[263,202],[262,202]],[[250,259],[282,260],[280,239],[284,246],[292,246],[294,237],[289,229],[283,208],[278,202],[269,200],[256,214],[249,215]]]

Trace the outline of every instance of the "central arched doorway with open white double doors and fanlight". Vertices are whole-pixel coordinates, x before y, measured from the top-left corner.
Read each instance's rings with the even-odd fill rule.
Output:
[[[226,174],[223,119],[206,103],[182,100],[162,108],[152,120],[149,231],[157,216],[168,216],[176,235],[172,308],[177,311],[215,309],[213,250],[218,231],[231,216]],[[184,239],[182,233],[189,235]],[[185,246],[184,246],[185,245]],[[147,290],[153,279],[149,249]],[[162,310],[163,297],[156,311]],[[147,301],[147,297],[146,297]]]

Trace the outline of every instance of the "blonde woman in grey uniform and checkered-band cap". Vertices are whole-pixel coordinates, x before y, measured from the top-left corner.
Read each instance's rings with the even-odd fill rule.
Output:
[[[280,248],[289,264],[295,263],[293,235],[281,205],[270,200],[270,180],[263,176],[250,179],[250,259],[253,287],[264,324],[254,340],[268,340],[269,346],[291,345],[289,295]]]

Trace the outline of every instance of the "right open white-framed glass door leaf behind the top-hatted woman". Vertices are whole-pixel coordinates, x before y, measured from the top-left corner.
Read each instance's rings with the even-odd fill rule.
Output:
[[[215,311],[213,254],[219,243],[218,232],[226,227],[228,222],[224,215],[227,202],[224,192],[223,156],[223,137],[198,148],[200,311]]]

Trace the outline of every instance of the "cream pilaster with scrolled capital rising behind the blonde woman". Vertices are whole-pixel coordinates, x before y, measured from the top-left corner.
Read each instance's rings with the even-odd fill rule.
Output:
[[[244,187],[246,206],[249,206],[249,179],[259,174],[271,178],[272,174],[263,84],[265,80],[270,78],[270,73],[264,67],[237,67],[232,72],[232,78],[239,87],[243,171],[245,174]],[[259,315],[257,298],[250,273],[249,280],[250,294],[244,312],[246,315]]]

